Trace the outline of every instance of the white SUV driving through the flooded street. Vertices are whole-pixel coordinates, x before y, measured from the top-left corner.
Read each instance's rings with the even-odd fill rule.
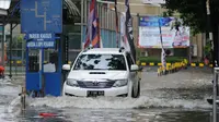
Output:
[[[139,66],[123,48],[94,48],[79,53],[64,83],[64,96],[140,96]]]

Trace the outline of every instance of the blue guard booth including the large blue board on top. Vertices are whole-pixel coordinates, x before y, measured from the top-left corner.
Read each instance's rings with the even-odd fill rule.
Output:
[[[21,32],[26,40],[26,91],[60,96],[62,0],[21,0]]]

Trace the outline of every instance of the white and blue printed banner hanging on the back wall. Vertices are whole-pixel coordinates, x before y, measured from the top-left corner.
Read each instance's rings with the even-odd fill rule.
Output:
[[[182,20],[143,16],[139,20],[138,46],[140,48],[161,48],[159,19],[164,48],[189,47],[189,27],[182,26]]]

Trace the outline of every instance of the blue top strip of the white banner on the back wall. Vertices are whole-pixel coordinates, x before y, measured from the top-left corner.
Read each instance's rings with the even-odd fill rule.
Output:
[[[139,26],[158,27],[159,22],[161,26],[170,26],[170,22],[173,20],[174,17],[141,16],[139,20]]]

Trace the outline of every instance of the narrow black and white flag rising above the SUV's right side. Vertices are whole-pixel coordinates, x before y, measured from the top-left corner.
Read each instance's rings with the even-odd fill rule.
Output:
[[[125,41],[128,41],[129,48],[130,48],[130,53],[136,62],[136,48],[134,44],[134,29],[132,29],[132,19],[130,15],[130,8],[129,8],[129,0],[125,0],[125,5],[126,5],[126,21],[125,21]]]

